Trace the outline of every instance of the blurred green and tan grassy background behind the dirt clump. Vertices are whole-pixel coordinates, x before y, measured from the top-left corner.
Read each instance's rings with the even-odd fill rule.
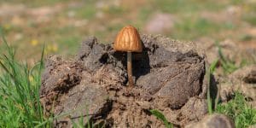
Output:
[[[29,62],[44,44],[47,55],[75,55],[90,35],[112,43],[129,24],[178,40],[256,48],[255,0],[0,0],[5,37]]]

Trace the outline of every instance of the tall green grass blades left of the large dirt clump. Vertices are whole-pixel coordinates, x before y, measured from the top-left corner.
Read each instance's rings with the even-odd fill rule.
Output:
[[[3,40],[4,43],[6,43]],[[0,56],[0,125],[1,127],[33,127],[44,122],[39,102],[43,59],[34,67],[15,61],[15,52],[5,45]]]

